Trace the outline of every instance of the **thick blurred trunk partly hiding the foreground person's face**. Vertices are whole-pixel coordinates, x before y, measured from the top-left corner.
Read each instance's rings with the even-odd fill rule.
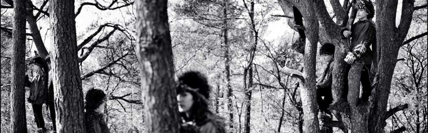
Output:
[[[137,0],[137,54],[148,133],[178,133],[167,0]]]

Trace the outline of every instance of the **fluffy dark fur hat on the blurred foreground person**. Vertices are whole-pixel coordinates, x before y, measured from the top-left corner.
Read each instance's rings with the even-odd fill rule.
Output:
[[[178,93],[193,91],[204,96],[205,99],[210,98],[211,90],[207,78],[200,72],[184,72],[178,77],[176,89]]]

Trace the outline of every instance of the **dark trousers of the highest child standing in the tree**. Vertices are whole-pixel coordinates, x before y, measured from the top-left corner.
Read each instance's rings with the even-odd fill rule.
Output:
[[[372,65],[364,65],[363,66],[363,71],[361,71],[361,86],[363,86],[363,95],[361,96],[361,100],[362,101],[368,101],[369,100],[369,96],[372,95],[372,82],[370,82],[370,69],[371,69]],[[351,65],[348,65],[346,67],[346,72],[345,72],[345,84],[343,87],[343,98],[347,99],[348,98],[348,72],[351,69]]]

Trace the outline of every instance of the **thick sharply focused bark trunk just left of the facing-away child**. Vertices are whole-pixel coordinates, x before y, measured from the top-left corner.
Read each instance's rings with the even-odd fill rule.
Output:
[[[56,131],[86,133],[82,83],[77,64],[74,0],[50,0],[49,11]]]

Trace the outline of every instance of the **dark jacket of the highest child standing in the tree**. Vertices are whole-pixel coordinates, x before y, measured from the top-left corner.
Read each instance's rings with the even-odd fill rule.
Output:
[[[343,31],[349,29],[342,29]],[[376,45],[376,27],[372,20],[362,20],[351,26],[351,44],[349,50],[356,58],[363,58],[364,64],[372,64],[371,45]]]

